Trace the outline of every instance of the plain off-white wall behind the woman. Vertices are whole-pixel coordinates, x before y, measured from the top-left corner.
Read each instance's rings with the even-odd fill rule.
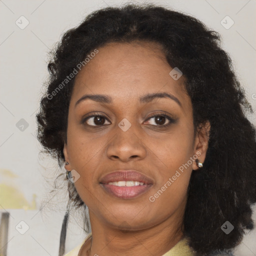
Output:
[[[31,202],[36,194],[36,210],[6,209],[10,212],[8,256],[57,255],[66,194],[49,194],[48,181],[60,171],[49,157],[38,155],[35,113],[41,85],[47,77],[47,51],[61,34],[76,26],[92,10],[126,1],[110,0],[0,0],[0,168],[17,177],[17,189]],[[147,1],[137,1],[139,3]],[[191,14],[220,32],[222,46],[230,53],[248,101],[256,109],[255,87],[255,0],[167,0],[153,1]],[[20,29],[15,21],[23,15],[29,24]],[[220,21],[228,15],[234,24],[226,29]],[[21,23],[21,21],[19,21]],[[227,21],[228,23],[229,21]],[[24,24],[24,21],[23,21]],[[217,82],[217,81],[216,81]],[[227,99],[228,100],[228,99]],[[24,118],[28,127],[20,131],[16,123]],[[249,119],[256,124],[255,113]],[[43,176],[42,176],[43,175]],[[0,178],[3,180],[5,177]],[[0,182],[2,182],[0,180]],[[253,215],[256,219],[255,210]],[[16,231],[19,221],[29,229]],[[79,244],[84,235],[81,222],[71,217],[66,252]],[[255,229],[247,234],[235,251],[236,256],[256,255]]]

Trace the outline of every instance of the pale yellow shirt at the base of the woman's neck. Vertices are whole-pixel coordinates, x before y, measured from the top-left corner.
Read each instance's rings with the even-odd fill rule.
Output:
[[[70,250],[64,256],[77,256],[78,252],[83,245],[83,243],[91,236],[91,232],[84,238],[81,244]],[[184,237],[179,240],[169,251],[164,253],[162,256],[193,256],[195,253],[193,252],[192,248],[187,244],[187,238]]]

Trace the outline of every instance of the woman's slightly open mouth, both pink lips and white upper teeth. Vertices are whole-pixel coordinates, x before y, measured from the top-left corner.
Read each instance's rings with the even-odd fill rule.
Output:
[[[103,176],[99,183],[110,195],[133,199],[147,192],[154,181],[136,170],[118,170]]]

